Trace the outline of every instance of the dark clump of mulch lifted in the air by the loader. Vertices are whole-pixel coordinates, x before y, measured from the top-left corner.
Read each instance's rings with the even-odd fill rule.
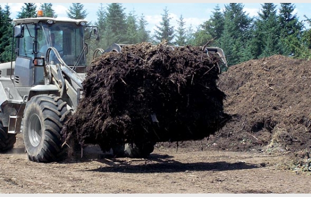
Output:
[[[202,48],[173,50],[165,42],[103,53],[89,66],[83,99],[63,132],[106,150],[215,134],[230,119],[217,86],[219,62]]]

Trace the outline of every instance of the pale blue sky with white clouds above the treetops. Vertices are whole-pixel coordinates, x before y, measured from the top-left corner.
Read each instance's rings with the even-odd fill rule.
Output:
[[[283,2],[283,1],[281,1]],[[286,2],[286,1],[285,1]],[[178,27],[177,20],[180,16],[183,17],[185,26],[189,28],[192,27],[193,30],[196,30],[197,27],[202,24],[204,21],[209,20],[210,15],[217,4],[221,9],[225,8],[225,3],[122,3],[124,12],[126,14],[130,12],[135,12],[135,14],[140,18],[144,16],[148,25],[147,30],[154,32],[156,25],[159,25],[161,19],[161,14],[164,13],[166,8],[169,13],[170,25],[174,26],[175,29]],[[8,4],[10,7],[11,18],[15,18],[17,13],[21,10],[21,7],[24,3],[0,3],[2,9]],[[36,3],[37,8],[40,7],[40,3]],[[107,7],[108,3],[102,3],[103,7]],[[244,11],[249,16],[257,16],[258,12],[261,9],[261,4],[263,3],[243,3]],[[274,3],[279,8],[279,3]],[[67,17],[67,10],[70,8],[72,3],[53,3],[53,9],[55,10],[58,17]],[[300,21],[304,20],[306,15],[308,18],[311,18],[311,3],[295,3],[296,9],[294,13],[297,14]],[[100,3],[83,3],[83,8],[86,10],[87,17],[85,18],[89,22],[97,21],[97,11],[100,7]],[[308,26],[308,25],[307,25]],[[309,28],[309,27],[308,27]]]

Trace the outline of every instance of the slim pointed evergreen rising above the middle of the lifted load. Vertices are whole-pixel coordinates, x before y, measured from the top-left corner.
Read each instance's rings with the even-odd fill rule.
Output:
[[[162,21],[160,22],[160,25],[156,25],[157,30],[155,30],[155,39],[156,42],[160,43],[163,40],[166,40],[168,44],[172,44],[173,39],[175,37],[174,35],[174,27],[170,26],[169,22],[171,18],[168,16],[168,10],[167,7],[164,9],[164,13],[162,15]]]

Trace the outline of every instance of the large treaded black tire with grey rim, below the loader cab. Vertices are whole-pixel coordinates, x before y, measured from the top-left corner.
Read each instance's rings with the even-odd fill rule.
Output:
[[[55,95],[38,95],[27,102],[23,134],[29,160],[48,163],[63,159],[61,131],[69,114],[67,103]]]

